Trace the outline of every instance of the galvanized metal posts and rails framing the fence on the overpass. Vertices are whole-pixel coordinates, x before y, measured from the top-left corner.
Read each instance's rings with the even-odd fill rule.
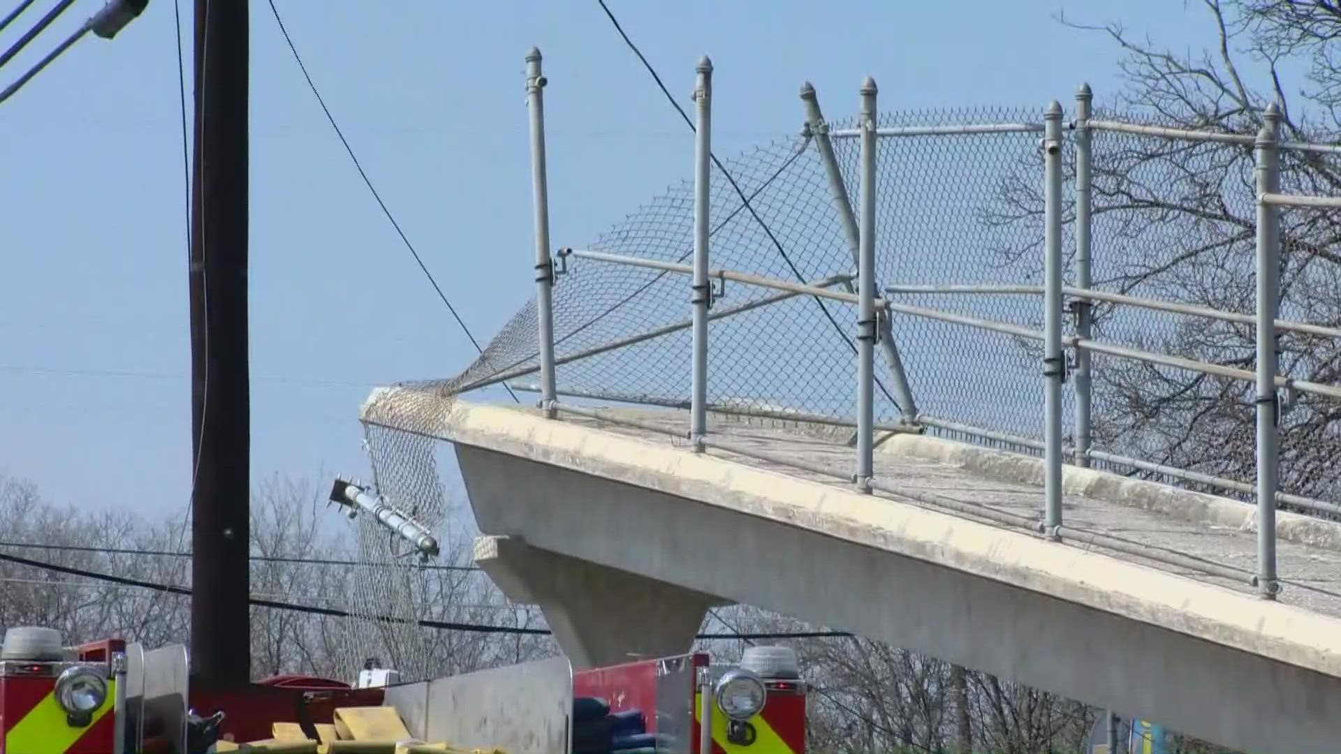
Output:
[[[555,416],[562,409],[575,415],[610,419],[599,411],[585,409],[561,404],[561,394],[555,369],[565,362],[577,361],[605,353],[618,347],[625,347],[652,338],[658,338],[679,330],[692,331],[692,389],[687,404],[691,412],[688,439],[695,451],[705,448],[720,448],[728,452],[750,455],[763,460],[789,463],[798,468],[809,468],[821,474],[834,474],[818,466],[811,468],[806,462],[795,459],[768,457],[758,449],[739,447],[730,440],[716,439],[708,425],[708,412],[723,409],[709,404],[708,381],[711,370],[708,364],[708,338],[711,337],[711,322],[732,317],[744,311],[751,311],[763,306],[771,306],[795,297],[814,297],[829,302],[853,306],[854,311],[854,341],[857,361],[857,385],[854,385],[856,402],[856,437],[853,474],[850,475],[856,488],[862,492],[872,490],[885,490],[901,496],[923,499],[929,504],[937,504],[952,510],[963,510],[972,515],[1011,525],[1027,525],[1037,527],[1049,538],[1062,538],[1066,535],[1092,537],[1093,533],[1078,531],[1067,527],[1063,521],[1062,506],[1062,467],[1070,460],[1077,466],[1090,466],[1092,462],[1108,464],[1121,464],[1130,468],[1144,470],[1156,474],[1177,476],[1189,482],[1216,486],[1236,492],[1251,492],[1257,498],[1258,510],[1258,558],[1255,572],[1250,581],[1254,582],[1265,598],[1274,598],[1279,590],[1279,577],[1277,573],[1275,555],[1275,510],[1278,503],[1289,503],[1316,511],[1341,514],[1341,506],[1326,500],[1291,495],[1279,490],[1279,400],[1278,390],[1286,389],[1301,393],[1311,393],[1329,398],[1341,398],[1341,386],[1332,384],[1310,382],[1294,380],[1279,373],[1279,357],[1277,353],[1278,333],[1291,331],[1316,337],[1341,338],[1341,329],[1306,322],[1282,321],[1278,318],[1279,310],[1279,216],[1281,207],[1302,208],[1341,208],[1341,197],[1310,197],[1290,196],[1281,193],[1281,149],[1301,149],[1311,152],[1341,152],[1341,146],[1307,145],[1297,142],[1281,142],[1279,121],[1281,115],[1274,105],[1262,114],[1262,129],[1254,136],[1212,131],[1192,131],[1164,126],[1148,126],[1125,123],[1112,119],[1096,119],[1092,117],[1093,93],[1088,86],[1082,86],[1075,95],[1075,119],[1071,123],[1063,122],[1062,106],[1051,102],[1041,114],[1037,123],[968,123],[955,126],[911,126],[911,127],[878,127],[877,119],[877,87],[873,79],[862,82],[860,90],[860,110],[857,127],[843,130],[830,130],[819,109],[815,90],[809,83],[801,91],[805,107],[805,136],[814,141],[819,161],[823,165],[827,189],[834,207],[834,219],[842,231],[849,251],[852,252],[853,271],[838,274],[815,282],[795,282],[752,274],[743,270],[727,270],[712,266],[711,255],[711,118],[712,118],[712,64],[703,58],[697,66],[697,82],[695,89],[696,105],[696,136],[695,136],[695,178],[693,178],[693,259],[692,264],[666,262],[658,259],[640,258],[628,254],[613,254],[607,251],[590,250],[561,250],[558,258],[551,258],[548,246],[548,215],[546,208],[546,172],[544,172],[544,136],[542,87],[544,76],[540,74],[540,56],[532,51],[527,56],[527,94],[531,109],[531,144],[532,144],[532,177],[535,196],[535,224],[536,224],[536,307],[539,323],[539,364],[536,366],[522,366],[493,374],[480,380],[464,389],[473,389],[487,384],[502,382],[515,377],[539,373],[538,385],[532,389],[540,393],[539,405],[547,416]],[[1257,294],[1255,313],[1236,314],[1219,311],[1210,307],[1193,306],[1188,303],[1159,301],[1148,297],[1129,295],[1125,292],[1102,291],[1094,288],[1093,283],[1093,191],[1092,178],[1094,174],[1092,137],[1097,131],[1117,131],[1140,134],[1147,137],[1188,141],[1188,142],[1218,142],[1238,146],[1251,146],[1255,157],[1255,192],[1257,192],[1257,239],[1255,239],[1255,266],[1257,266]],[[952,136],[952,134],[1021,134],[1039,133],[1039,149],[1042,152],[1043,169],[1043,284],[886,284],[881,287],[876,280],[876,196],[878,193],[877,152],[881,140],[907,138],[925,136]],[[1070,133],[1070,144],[1074,146],[1074,284],[1065,284],[1063,270],[1063,146]],[[848,195],[843,174],[834,154],[833,140],[854,138],[860,142],[860,207],[854,212]],[[582,260],[594,264],[617,264],[626,267],[642,267],[657,270],[661,274],[683,275],[689,278],[691,311],[687,321],[649,329],[610,343],[589,347],[563,358],[555,358],[554,325],[550,307],[552,306],[551,291],[555,284],[557,266],[559,271],[566,270],[569,259]],[[713,280],[723,287],[725,282],[767,288],[775,291],[768,297],[748,302],[742,306],[719,309],[713,311],[717,295]],[[880,294],[877,294],[877,290]],[[1038,297],[1043,307],[1043,329],[1037,330],[1030,326],[1000,322],[984,317],[974,317],[953,311],[944,311],[928,306],[916,306],[897,301],[905,294],[960,294],[960,295],[1023,295]],[[1155,353],[1128,345],[1104,342],[1094,337],[1093,309],[1096,303],[1109,303],[1117,306],[1164,311],[1185,317],[1199,317],[1212,321],[1231,322],[1235,325],[1251,326],[1255,329],[1255,369],[1252,372],[1185,358],[1180,356]],[[1065,333],[1063,319],[1067,303],[1073,314],[1073,334]],[[913,389],[909,385],[904,370],[902,358],[897,343],[890,333],[893,317],[924,318],[963,327],[986,330],[1000,335],[1021,338],[1042,346],[1042,377],[1043,392],[1043,437],[1037,440],[1023,437],[1010,432],[999,432],[987,428],[974,427],[966,423],[952,421],[947,417],[936,417],[919,412],[915,402]],[[874,415],[874,385],[876,385],[876,346],[881,346],[885,366],[893,376],[894,392],[902,415],[898,425],[877,424]],[[1067,354],[1073,357],[1074,369],[1073,396],[1074,427],[1071,428],[1071,441],[1067,444],[1063,436],[1063,384],[1067,378]],[[1189,370],[1202,374],[1216,376],[1227,380],[1255,385],[1255,432],[1257,432],[1257,479],[1247,484],[1232,479],[1224,479],[1191,470],[1175,468],[1156,464],[1141,459],[1128,457],[1094,449],[1093,437],[1093,380],[1094,364],[1092,354],[1104,354],[1122,360]],[[566,392],[565,394],[583,394]],[[607,396],[591,396],[607,397]],[[656,402],[656,401],[648,401]],[[669,405],[662,401],[658,405]],[[675,405],[684,405],[676,402]],[[802,412],[786,412],[787,417],[802,416]],[[835,420],[825,420],[838,424]],[[637,424],[636,420],[620,420]],[[933,427],[944,431],[975,435],[987,440],[1008,443],[1022,448],[1039,451],[1045,463],[1045,504],[1041,519],[1021,517],[1010,511],[1000,511],[982,504],[963,500],[948,500],[939,495],[921,495],[904,488],[892,487],[876,478],[874,468],[874,432],[888,431],[921,431]],[[665,427],[646,424],[646,429],[666,432]],[[919,498],[921,495],[921,498]],[[933,498],[933,499],[932,499]],[[1116,542],[1116,541],[1114,541]],[[1117,545],[1114,545],[1117,547]],[[1134,543],[1121,542],[1121,547],[1133,549]],[[1121,549],[1118,547],[1118,549]],[[1125,550],[1124,550],[1125,551]],[[1149,551],[1143,551],[1143,557],[1156,557]],[[1173,562],[1173,561],[1171,561]],[[1177,559],[1179,563],[1185,562]],[[1206,566],[1210,573],[1232,578],[1247,578],[1246,573],[1238,569],[1223,566]]]

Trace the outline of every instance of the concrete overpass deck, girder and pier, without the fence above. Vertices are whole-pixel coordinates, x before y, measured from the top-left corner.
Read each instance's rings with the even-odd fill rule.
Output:
[[[1054,542],[975,514],[1038,511],[1033,457],[894,435],[877,474],[905,494],[864,495],[787,464],[842,468],[846,429],[715,417],[767,463],[670,441],[680,412],[605,415],[457,400],[433,432],[485,534],[479,565],[575,664],[683,652],[708,606],[744,602],[1244,751],[1337,741],[1341,598],[1310,589],[1341,577],[1334,523],[1279,515],[1281,570],[1310,582],[1266,601],[1232,578],[1255,510],[1234,500],[1067,468],[1067,522],[1096,534]],[[1181,555],[1114,550],[1114,533]]]

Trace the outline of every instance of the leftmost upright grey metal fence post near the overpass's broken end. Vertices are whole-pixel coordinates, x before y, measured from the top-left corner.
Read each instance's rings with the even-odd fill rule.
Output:
[[[544,174],[544,89],[540,48],[526,54],[526,105],[531,114],[531,195],[535,205],[535,319],[540,338],[540,408],[555,416],[554,384],[554,262],[550,256],[550,197]]]

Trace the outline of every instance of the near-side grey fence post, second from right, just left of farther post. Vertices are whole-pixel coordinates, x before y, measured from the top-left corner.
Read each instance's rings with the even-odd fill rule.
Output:
[[[1045,533],[1057,537],[1062,525],[1062,105],[1053,101],[1043,114],[1043,439],[1046,462]]]

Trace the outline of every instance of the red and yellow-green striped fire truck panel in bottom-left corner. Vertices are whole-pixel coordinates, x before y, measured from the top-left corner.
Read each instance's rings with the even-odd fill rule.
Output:
[[[0,676],[0,754],[111,754],[115,684],[87,726],[71,726],[56,702],[55,678]]]

